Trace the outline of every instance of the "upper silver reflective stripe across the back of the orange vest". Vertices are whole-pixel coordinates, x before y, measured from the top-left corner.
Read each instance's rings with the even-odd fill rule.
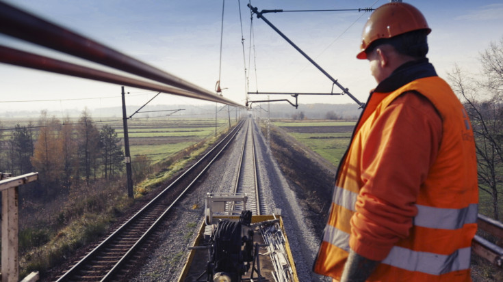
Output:
[[[466,208],[433,208],[417,206],[417,216],[414,225],[433,229],[459,229],[467,223],[477,222],[478,205],[472,203]]]

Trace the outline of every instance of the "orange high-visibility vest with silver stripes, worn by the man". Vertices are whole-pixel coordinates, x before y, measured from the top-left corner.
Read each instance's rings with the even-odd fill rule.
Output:
[[[441,145],[420,188],[410,236],[393,246],[367,281],[471,281],[470,253],[478,213],[474,136],[463,105],[438,76],[417,79],[389,93],[374,93],[367,102],[337,171],[331,214],[314,265],[319,274],[341,277],[350,249],[350,218],[363,185],[361,144],[383,109],[407,91],[422,94],[437,109]]]

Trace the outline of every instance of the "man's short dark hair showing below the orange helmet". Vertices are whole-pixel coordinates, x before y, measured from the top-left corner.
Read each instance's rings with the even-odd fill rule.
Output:
[[[395,50],[402,54],[415,58],[424,58],[428,53],[428,40],[426,39],[428,31],[425,29],[410,31],[407,33],[402,33],[398,36],[392,38],[381,38],[378,39],[365,50],[365,53],[370,54],[374,49],[382,44],[389,44],[395,48]]]

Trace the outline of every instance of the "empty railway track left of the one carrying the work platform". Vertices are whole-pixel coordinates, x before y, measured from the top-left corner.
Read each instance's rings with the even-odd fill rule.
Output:
[[[148,240],[166,214],[185,195],[220,153],[231,143],[244,122],[214,146],[203,158],[181,174],[168,187],[136,212],[127,222],[103,240],[83,259],[75,263],[57,281],[121,280],[123,268],[135,259],[138,250]]]

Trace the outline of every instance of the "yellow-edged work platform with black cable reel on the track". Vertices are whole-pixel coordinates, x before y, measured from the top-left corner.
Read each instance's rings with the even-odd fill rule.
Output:
[[[244,193],[208,193],[179,282],[298,282],[281,210],[253,215]]]

